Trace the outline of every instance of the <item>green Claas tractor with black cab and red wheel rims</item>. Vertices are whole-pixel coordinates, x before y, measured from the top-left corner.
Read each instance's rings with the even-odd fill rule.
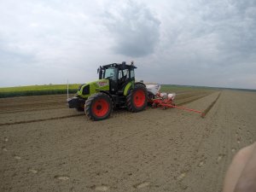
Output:
[[[113,108],[143,111],[148,104],[148,90],[142,82],[135,82],[135,68],[133,62],[99,67],[99,79],[81,84],[76,96],[67,99],[68,107],[84,111],[92,120],[107,119]]]

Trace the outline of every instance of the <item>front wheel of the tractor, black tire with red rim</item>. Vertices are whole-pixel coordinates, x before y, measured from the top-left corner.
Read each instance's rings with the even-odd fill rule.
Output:
[[[111,98],[102,92],[90,96],[84,104],[84,112],[89,119],[103,120],[108,119],[113,110]]]

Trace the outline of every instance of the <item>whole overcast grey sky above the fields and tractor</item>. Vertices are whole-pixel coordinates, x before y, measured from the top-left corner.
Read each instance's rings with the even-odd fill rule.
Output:
[[[0,87],[137,80],[256,89],[255,0],[0,0]]]

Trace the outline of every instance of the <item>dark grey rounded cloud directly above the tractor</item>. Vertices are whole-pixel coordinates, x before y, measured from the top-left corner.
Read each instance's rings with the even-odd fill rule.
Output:
[[[113,6],[105,16],[115,53],[139,57],[154,52],[160,38],[160,21],[145,4],[128,1],[120,8]]]

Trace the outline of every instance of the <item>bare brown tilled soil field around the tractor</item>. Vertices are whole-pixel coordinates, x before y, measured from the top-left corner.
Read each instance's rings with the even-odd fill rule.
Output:
[[[189,92],[177,104],[205,110],[218,94]],[[255,92],[221,91],[204,119],[147,108],[93,122],[65,99],[0,99],[1,192],[221,191],[234,154],[256,139]]]

